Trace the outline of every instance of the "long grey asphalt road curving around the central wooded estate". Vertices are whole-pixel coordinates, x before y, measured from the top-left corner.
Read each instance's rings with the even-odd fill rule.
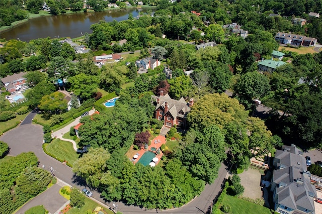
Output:
[[[33,117],[36,113],[30,113],[19,127],[6,132],[1,138],[10,146],[9,155],[17,156],[22,152],[34,152],[39,159],[39,167],[44,165],[44,168],[49,171],[50,167],[54,169],[54,175],[68,183],[71,186],[76,186],[78,189],[84,188],[84,181],[74,177],[70,167],[60,163],[56,159],[46,155],[42,149],[43,131],[42,126],[31,124]],[[212,185],[207,184],[205,190],[200,196],[196,197],[190,203],[176,209],[162,210],[167,213],[207,213],[212,200],[217,196],[221,190],[221,184],[224,178],[227,176],[226,167],[221,164],[218,172],[218,178]],[[100,193],[92,191],[93,197],[101,202],[104,202],[103,198],[100,198]],[[108,206],[112,206],[113,202],[105,203]],[[145,210],[133,205],[125,205],[122,202],[116,202],[118,204],[117,209],[124,214],[127,213],[156,213],[157,210]],[[113,207],[113,206],[112,206]]]

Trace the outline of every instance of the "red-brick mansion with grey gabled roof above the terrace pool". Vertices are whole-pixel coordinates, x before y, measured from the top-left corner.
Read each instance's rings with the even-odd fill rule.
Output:
[[[183,97],[179,100],[172,99],[168,93],[164,95],[164,91],[161,90],[160,96],[152,95],[152,99],[155,105],[155,119],[164,121],[164,126],[168,128],[173,127],[175,124],[183,129],[186,128],[187,115],[193,105],[193,98],[187,103]]]

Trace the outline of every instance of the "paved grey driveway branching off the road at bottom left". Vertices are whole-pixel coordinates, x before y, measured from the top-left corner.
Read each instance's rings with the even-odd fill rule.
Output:
[[[17,213],[25,213],[25,211],[37,205],[44,205],[50,213],[55,213],[65,202],[67,202],[67,199],[59,194],[60,188],[61,186],[58,184],[53,185],[28,201]]]

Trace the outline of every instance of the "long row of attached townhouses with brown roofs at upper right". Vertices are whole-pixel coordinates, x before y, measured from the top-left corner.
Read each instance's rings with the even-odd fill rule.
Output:
[[[277,32],[275,40],[279,43],[294,46],[313,46],[317,42],[317,39],[315,38],[282,32]]]

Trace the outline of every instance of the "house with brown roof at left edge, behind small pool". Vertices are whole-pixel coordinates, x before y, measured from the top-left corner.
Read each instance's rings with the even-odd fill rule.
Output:
[[[15,91],[19,91],[20,89],[28,88],[26,83],[26,72],[14,73],[13,75],[4,77],[1,81],[4,83],[6,90],[14,93]]]

